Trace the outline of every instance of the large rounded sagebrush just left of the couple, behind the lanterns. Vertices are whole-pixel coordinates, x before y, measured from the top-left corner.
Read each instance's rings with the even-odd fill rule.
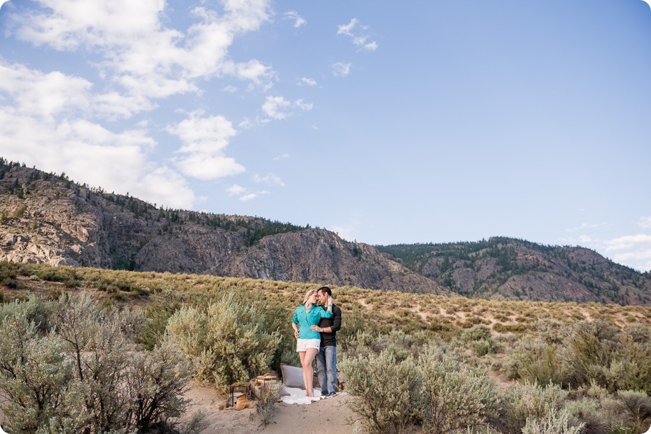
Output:
[[[195,360],[199,381],[225,390],[268,369],[280,336],[278,330],[267,331],[261,318],[255,304],[229,293],[204,311],[182,307],[170,318],[167,333]]]

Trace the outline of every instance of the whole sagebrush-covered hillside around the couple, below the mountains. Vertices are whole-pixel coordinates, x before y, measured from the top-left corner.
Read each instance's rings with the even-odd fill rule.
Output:
[[[184,390],[297,365],[289,323],[311,287],[0,262],[3,426],[199,432]],[[332,289],[346,405],[367,432],[651,423],[650,308]]]

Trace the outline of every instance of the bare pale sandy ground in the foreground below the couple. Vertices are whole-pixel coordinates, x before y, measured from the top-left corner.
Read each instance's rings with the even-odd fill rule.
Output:
[[[346,405],[351,399],[347,395],[321,399],[308,405],[279,403],[275,416],[267,426],[262,424],[255,408],[219,410],[219,406],[226,403],[226,397],[217,394],[213,388],[195,385],[186,397],[192,400],[187,416],[198,410],[207,414],[209,427],[204,434],[353,433],[356,420],[359,419]],[[361,421],[359,425],[361,428]],[[360,429],[359,433],[366,433],[366,430]]]

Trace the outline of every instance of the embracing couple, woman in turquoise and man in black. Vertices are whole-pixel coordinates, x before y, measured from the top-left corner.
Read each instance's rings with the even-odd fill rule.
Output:
[[[322,396],[337,395],[337,330],[341,328],[341,309],[332,303],[329,287],[307,291],[303,304],[294,312],[292,328],[307,396],[314,396],[314,359]]]

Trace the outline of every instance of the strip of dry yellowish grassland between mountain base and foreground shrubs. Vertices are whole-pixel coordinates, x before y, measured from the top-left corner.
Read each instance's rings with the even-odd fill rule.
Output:
[[[1,264],[2,272],[6,274],[8,269],[13,269],[16,283],[10,285],[15,287],[0,284],[0,300],[4,301],[24,298],[30,292],[49,298],[63,291],[91,291],[102,304],[143,308],[152,294],[163,290],[171,289],[187,301],[209,301],[222,291],[241,291],[250,294],[251,299],[289,311],[302,301],[307,289],[315,286],[199,274]],[[647,306],[498,301],[331,287],[344,312],[373,318],[380,329],[437,330],[440,325],[469,328],[483,324],[496,332],[527,333],[540,318],[554,318],[564,324],[600,318],[620,328],[634,323],[651,325],[651,308]]]

